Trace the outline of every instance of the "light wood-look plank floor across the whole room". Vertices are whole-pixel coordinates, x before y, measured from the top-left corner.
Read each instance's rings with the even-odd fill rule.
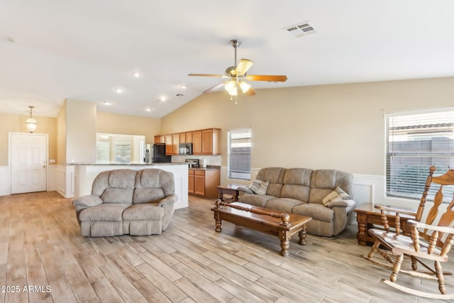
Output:
[[[212,199],[189,197],[159,236],[106,238],[80,236],[71,201],[0,197],[0,302],[431,302],[380,282],[390,271],[361,257],[370,248],[358,246],[355,225],[308,235],[305,246],[294,236],[283,258],[273,236],[228,222],[216,233]],[[454,270],[450,257],[444,268]],[[454,292],[454,277],[446,282]]]

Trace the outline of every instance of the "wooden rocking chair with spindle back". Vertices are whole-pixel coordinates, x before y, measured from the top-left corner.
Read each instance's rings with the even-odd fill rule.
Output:
[[[384,211],[392,211],[392,209],[382,206],[377,207],[382,211],[384,230],[378,228],[371,228],[369,230],[370,235],[375,238],[375,243],[373,244],[370,253],[367,255],[367,258],[371,259],[372,255],[378,250],[380,255],[388,260],[389,263],[392,263],[392,274],[390,275],[389,280],[382,280],[382,282],[387,285],[420,297],[454,299],[454,294],[447,294],[445,290],[444,275],[450,275],[450,273],[443,272],[441,267],[441,262],[446,262],[448,260],[448,251],[454,243],[454,228],[452,227],[454,225],[454,197],[445,213],[438,219],[438,224],[433,224],[437,218],[438,206],[443,202],[443,186],[454,184],[454,170],[448,170],[445,174],[436,177],[433,177],[434,171],[435,167],[432,166],[426,180],[426,187],[423,192],[423,197],[421,198],[421,203],[415,214],[415,220],[408,221],[409,226],[411,226],[411,237],[404,236],[401,233],[398,211],[396,211],[396,230],[390,231]],[[426,224],[423,224],[419,222],[419,219],[421,219],[422,210],[426,203],[428,189],[433,183],[439,184],[440,188],[438,189],[438,192],[436,192],[433,206],[428,212]],[[389,251],[381,250],[380,246],[384,246]],[[396,256],[395,261],[392,260],[389,253]],[[411,258],[412,270],[401,270],[404,256]],[[431,266],[424,263],[423,259],[433,261],[434,268],[431,268]],[[417,263],[423,265],[429,272],[417,271]],[[415,277],[438,280],[438,290],[441,294],[421,292],[420,290],[414,290],[395,283],[399,272],[405,272]]]

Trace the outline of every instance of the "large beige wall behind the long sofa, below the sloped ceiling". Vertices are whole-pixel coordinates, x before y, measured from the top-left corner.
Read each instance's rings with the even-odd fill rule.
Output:
[[[272,84],[270,84],[272,86]],[[454,77],[205,94],[165,116],[161,133],[252,128],[252,166],[333,168],[384,175],[384,114],[453,106]]]

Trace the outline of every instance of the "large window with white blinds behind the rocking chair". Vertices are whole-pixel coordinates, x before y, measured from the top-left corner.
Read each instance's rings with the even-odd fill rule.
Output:
[[[428,169],[435,175],[454,168],[454,107],[432,111],[387,114],[386,180],[387,195],[420,199]],[[453,199],[453,188],[446,188],[443,201]],[[433,199],[438,188],[431,188]]]

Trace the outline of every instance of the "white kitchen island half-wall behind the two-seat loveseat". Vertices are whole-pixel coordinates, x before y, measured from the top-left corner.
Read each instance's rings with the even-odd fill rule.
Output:
[[[99,172],[106,170],[143,170],[145,168],[158,168],[172,172],[175,177],[175,194],[178,201],[175,209],[189,206],[188,204],[188,165],[187,163],[96,163],[96,164],[76,164],[74,163],[74,197],[80,197],[92,193],[94,178]]]

